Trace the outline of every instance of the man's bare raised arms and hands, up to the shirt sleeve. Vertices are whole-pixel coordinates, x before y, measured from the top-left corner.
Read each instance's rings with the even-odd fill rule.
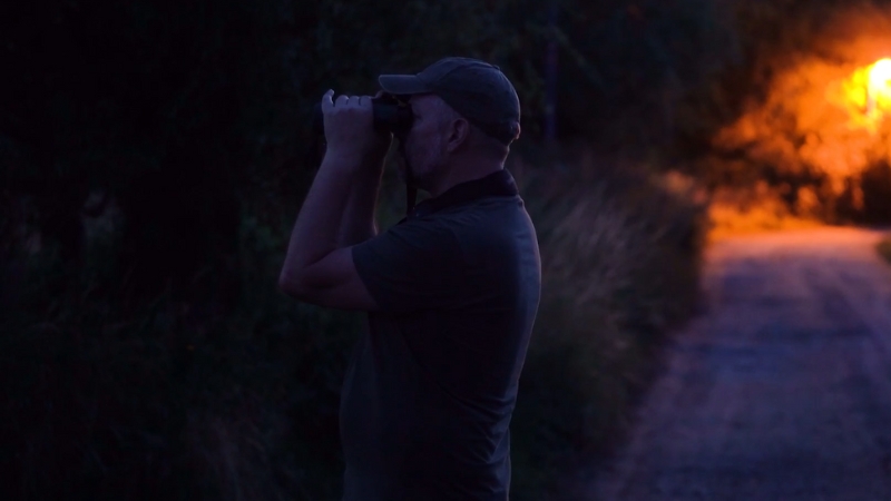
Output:
[[[370,98],[350,102],[342,96],[335,107],[332,95],[322,100],[329,148],[294,224],[278,285],[309,303],[375,310],[347,242],[373,235],[373,204],[390,141],[373,131]]]

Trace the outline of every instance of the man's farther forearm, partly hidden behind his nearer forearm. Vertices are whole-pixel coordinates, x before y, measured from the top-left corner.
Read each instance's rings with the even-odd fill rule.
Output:
[[[361,244],[378,234],[374,209],[378,191],[381,188],[381,168],[363,170],[363,175],[352,179],[346,207],[341,219],[337,244],[350,247]]]

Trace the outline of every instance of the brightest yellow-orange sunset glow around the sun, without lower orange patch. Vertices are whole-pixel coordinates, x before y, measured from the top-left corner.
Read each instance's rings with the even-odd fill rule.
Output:
[[[715,137],[718,149],[747,148],[755,161],[824,173],[833,191],[888,156],[891,58],[862,66],[804,60],[777,76],[766,100]],[[799,140],[796,138],[801,138]]]

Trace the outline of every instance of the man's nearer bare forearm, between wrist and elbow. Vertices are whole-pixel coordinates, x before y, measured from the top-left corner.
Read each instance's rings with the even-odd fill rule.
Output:
[[[341,218],[346,207],[354,160],[326,155],[291,233],[282,279],[294,279],[303,269],[339,248]]]

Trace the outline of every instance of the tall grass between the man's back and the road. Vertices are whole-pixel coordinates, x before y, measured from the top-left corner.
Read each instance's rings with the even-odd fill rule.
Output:
[[[517,500],[555,494],[574,459],[603,459],[616,445],[667,330],[698,297],[707,215],[694,186],[574,167],[528,184],[544,284],[512,422]],[[585,170],[599,173],[572,174]]]

